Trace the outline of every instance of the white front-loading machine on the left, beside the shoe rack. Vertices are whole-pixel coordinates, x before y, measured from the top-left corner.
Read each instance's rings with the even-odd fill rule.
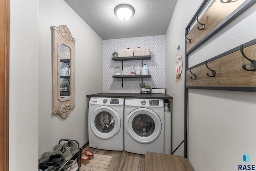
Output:
[[[91,97],[88,112],[89,146],[124,150],[124,99]]]

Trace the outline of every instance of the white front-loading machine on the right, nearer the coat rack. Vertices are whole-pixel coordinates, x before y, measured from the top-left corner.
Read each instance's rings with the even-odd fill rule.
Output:
[[[164,153],[164,100],[125,99],[124,150]]]

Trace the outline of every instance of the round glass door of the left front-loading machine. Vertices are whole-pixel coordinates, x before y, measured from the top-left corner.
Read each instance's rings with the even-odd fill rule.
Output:
[[[120,116],[109,106],[100,106],[94,109],[89,122],[92,132],[100,139],[114,137],[121,127]]]

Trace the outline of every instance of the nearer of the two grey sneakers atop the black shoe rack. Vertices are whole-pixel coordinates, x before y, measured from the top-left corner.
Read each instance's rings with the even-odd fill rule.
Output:
[[[50,155],[54,155],[54,154],[60,154],[60,155],[63,155],[65,157],[65,160],[68,161],[69,159],[72,158],[72,154],[71,154],[71,151],[70,151],[70,148],[66,145],[62,145],[56,149],[54,149],[54,151],[48,151],[48,152],[44,152],[42,154],[42,158],[47,158],[49,157]]]

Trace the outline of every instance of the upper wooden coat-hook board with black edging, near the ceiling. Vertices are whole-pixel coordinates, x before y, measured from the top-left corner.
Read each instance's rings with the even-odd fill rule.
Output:
[[[190,54],[256,0],[205,0],[186,28],[186,54]]]

